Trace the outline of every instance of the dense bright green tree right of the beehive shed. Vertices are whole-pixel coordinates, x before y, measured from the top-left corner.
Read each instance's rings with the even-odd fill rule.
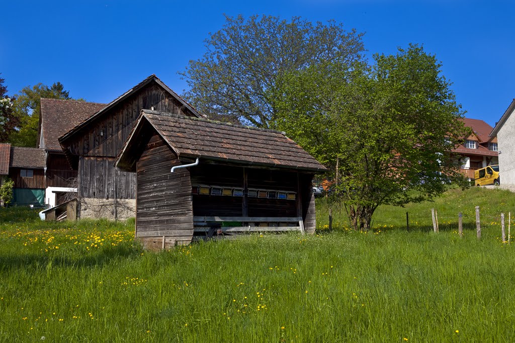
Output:
[[[465,135],[434,55],[410,45],[373,61],[312,66],[282,78],[272,96],[274,127],[339,176],[351,225],[364,230],[377,206],[420,202],[461,180],[449,152]]]

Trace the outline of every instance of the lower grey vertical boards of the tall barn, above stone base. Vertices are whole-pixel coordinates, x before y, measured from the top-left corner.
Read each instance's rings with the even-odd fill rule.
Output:
[[[114,157],[80,156],[79,196],[97,199],[133,199],[136,175],[114,168]]]

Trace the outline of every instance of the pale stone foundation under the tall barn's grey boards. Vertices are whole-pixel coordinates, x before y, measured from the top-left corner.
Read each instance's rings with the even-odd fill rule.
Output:
[[[114,220],[114,200],[81,198],[79,200],[79,218]],[[128,219],[136,215],[135,199],[118,199],[116,201],[116,219]]]

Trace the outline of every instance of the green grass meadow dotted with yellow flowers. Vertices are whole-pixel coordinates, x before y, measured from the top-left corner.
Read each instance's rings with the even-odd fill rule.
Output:
[[[0,341],[513,341],[515,244],[500,241],[495,216],[515,209],[514,195],[450,190],[384,206],[368,233],[346,230],[322,199],[315,236],[161,252],[133,242],[133,220],[46,223],[0,209]]]

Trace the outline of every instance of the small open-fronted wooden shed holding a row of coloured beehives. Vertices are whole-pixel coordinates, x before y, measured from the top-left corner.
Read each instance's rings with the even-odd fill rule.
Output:
[[[242,231],[313,233],[312,179],[326,170],[282,132],[148,110],[115,164],[137,175],[136,239],[147,248]]]

